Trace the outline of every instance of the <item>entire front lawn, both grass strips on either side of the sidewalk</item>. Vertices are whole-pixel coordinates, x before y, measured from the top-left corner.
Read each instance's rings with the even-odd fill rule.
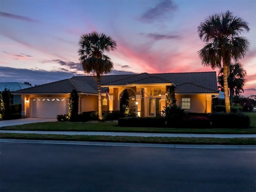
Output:
[[[0,130],[38,130],[38,131],[100,131],[100,132],[147,132],[147,133],[196,133],[196,134],[256,134],[256,112],[246,112],[250,117],[248,129],[227,128],[152,128],[119,127],[117,122],[44,122],[1,127]],[[236,144],[255,145],[256,138],[185,138],[185,137],[132,137],[132,136],[88,136],[56,134],[17,134],[0,133],[0,138],[35,140],[74,140],[94,142],[132,142],[157,144]]]

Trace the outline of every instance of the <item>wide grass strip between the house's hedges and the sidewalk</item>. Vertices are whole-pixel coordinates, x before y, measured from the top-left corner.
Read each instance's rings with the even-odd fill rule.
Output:
[[[30,131],[100,131],[100,132],[145,132],[145,133],[194,133],[194,134],[256,134],[256,127],[239,128],[153,128],[153,127],[119,127],[118,123],[98,122],[44,122],[1,127],[0,130]]]

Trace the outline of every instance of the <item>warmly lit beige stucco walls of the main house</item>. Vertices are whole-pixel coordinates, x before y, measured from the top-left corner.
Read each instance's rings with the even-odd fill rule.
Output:
[[[148,84],[130,86],[106,86],[109,88],[109,100],[107,105],[102,105],[102,111],[120,110],[120,95],[124,89],[130,90],[130,107],[138,116],[157,116],[166,106],[166,86],[170,84]],[[78,113],[97,111],[98,95],[81,94],[79,95]],[[26,94],[22,95],[22,116],[32,117],[31,99],[32,98],[69,98],[70,94]],[[176,104],[182,106],[182,98],[190,98],[190,110],[187,112],[211,113],[213,94],[176,94]],[[103,99],[106,93],[102,93]],[[28,102],[26,102],[28,101]],[[136,102],[138,104],[136,105]],[[68,106],[66,106],[68,108]]]

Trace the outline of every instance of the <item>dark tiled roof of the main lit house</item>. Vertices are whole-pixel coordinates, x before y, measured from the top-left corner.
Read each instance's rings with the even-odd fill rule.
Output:
[[[100,81],[102,86],[170,83],[176,86],[176,93],[218,93],[216,72],[104,75],[101,76]],[[70,93],[74,89],[80,93],[97,94],[95,76],[74,76],[70,79],[18,90],[15,93]],[[106,90],[108,88],[101,88],[102,92]]]

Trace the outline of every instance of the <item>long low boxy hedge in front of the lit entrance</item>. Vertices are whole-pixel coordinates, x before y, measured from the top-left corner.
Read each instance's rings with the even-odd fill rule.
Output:
[[[124,117],[118,119],[118,126],[123,127],[165,127],[164,118]]]

